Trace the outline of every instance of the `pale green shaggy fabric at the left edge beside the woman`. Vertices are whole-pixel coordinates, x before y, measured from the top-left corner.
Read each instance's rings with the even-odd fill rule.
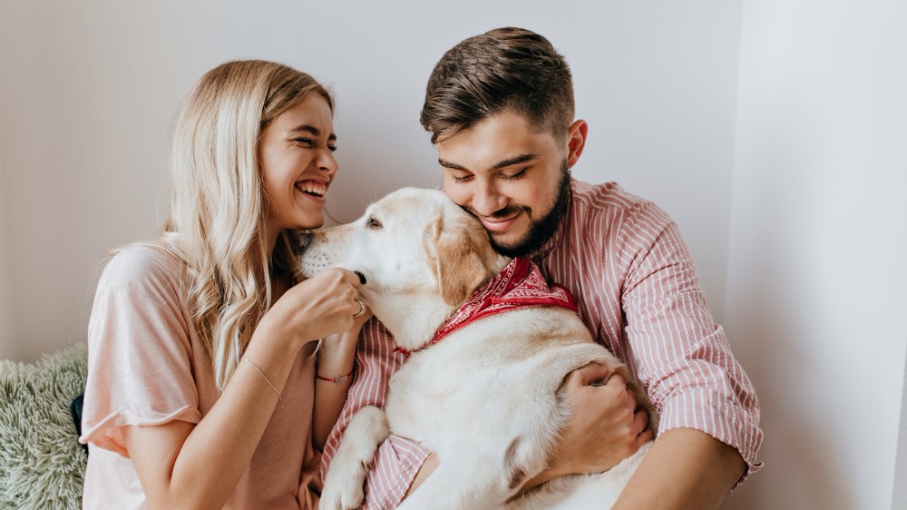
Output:
[[[0,361],[0,510],[82,507],[88,457],[69,405],[85,388],[86,353]]]

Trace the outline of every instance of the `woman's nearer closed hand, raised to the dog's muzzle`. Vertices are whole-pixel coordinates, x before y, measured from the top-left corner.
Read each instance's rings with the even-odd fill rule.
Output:
[[[359,277],[352,271],[326,270],[289,289],[268,310],[261,325],[281,330],[296,340],[297,348],[342,331],[356,329],[358,334],[367,319],[364,316],[370,314],[359,304],[359,285]]]

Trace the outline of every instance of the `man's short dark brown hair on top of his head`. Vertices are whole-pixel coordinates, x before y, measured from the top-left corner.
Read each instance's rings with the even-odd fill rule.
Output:
[[[523,28],[496,28],[448,50],[428,79],[420,122],[436,143],[505,110],[555,137],[573,121],[570,66],[548,39]]]

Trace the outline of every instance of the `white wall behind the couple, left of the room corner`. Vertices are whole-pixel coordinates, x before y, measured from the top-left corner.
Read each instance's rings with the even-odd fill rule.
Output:
[[[161,221],[180,98],[234,58],[334,85],[341,163],[329,211],[434,187],[418,124],[444,51],[501,25],[547,35],[576,75],[590,144],[575,173],[619,181],[684,230],[716,316],[727,268],[739,1],[115,2],[0,5],[0,153],[14,357],[83,341],[105,252]]]

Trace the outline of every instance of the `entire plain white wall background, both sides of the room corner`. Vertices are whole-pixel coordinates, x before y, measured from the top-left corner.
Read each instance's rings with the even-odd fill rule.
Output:
[[[4,0],[0,358],[84,341],[106,251],[157,232],[171,120],[211,67],[277,60],[332,87],[328,210],[351,221],[387,191],[438,184],[425,80],[502,25],[565,54],[590,123],[574,174],[678,221],[756,385],[766,467],[725,508],[907,505],[896,1]]]

